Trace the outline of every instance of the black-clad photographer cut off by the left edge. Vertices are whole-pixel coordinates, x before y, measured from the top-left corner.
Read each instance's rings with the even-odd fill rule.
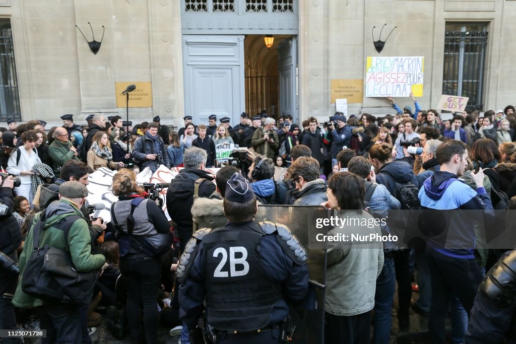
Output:
[[[0,329],[16,329],[12,296],[18,284],[17,248],[22,243],[18,221],[12,215],[12,176],[0,176]],[[23,343],[21,338],[3,338],[4,343]]]

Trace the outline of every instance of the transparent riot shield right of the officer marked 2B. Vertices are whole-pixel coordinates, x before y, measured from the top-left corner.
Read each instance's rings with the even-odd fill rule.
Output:
[[[315,299],[308,299],[306,312],[291,306],[291,322],[296,326],[293,343],[312,344],[324,342],[325,288],[326,288],[326,243],[310,244],[317,234],[328,234],[328,227],[316,226],[318,218],[326,218],[328,211],[321,206],[260,205],[256,222],[272,221],[284,224],[307,249],[310,287]],[[317,228],[320,227],[320,228]],[[313,295],[314,293],[312,293]]]

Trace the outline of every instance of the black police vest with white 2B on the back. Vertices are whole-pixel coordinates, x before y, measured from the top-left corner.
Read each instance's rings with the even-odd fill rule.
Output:
[[[258,224],[220,227],[202,239],[208,323],[217,330],[254,331],[266,326],[281,286],[261,269]]]

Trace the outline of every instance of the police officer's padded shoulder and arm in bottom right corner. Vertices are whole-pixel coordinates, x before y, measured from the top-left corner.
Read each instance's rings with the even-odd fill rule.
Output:
[[[465,342],[516,343],[516,250],[502,255],[482,280]]]

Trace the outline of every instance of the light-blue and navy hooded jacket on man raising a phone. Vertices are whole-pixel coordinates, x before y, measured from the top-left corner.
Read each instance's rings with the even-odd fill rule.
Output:
[[[419,198],[422,209],[440,210],[482,210],[493,209],[491,199],[483,187],[476,191],[460,181],[456,174],[436,171],[428,177],[420,189]],[[438,252],[455,258],[474,259],[475,232],[473,226],[466,226],[464,216],[470,212],[457,212],[449,219],[446,232],[446,243],[450,247],[464,249],[436,249]],[[462,220],[461,220],[462,219]],[[432,246],[429,239],[428,245]]]

